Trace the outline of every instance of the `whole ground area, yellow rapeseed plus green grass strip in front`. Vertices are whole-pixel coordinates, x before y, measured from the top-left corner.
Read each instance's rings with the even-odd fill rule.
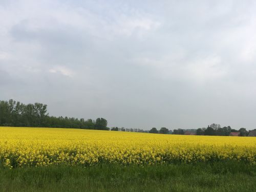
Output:
[[[256,138],[0,127],[1,191],[255,191]]]

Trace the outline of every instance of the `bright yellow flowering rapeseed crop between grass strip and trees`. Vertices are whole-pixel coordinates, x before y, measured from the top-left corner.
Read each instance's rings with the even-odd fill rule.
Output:
[[[50,164],[156,164],[219,160],[256,164],[256,137],[0,127],[0,164],[10,168]]]

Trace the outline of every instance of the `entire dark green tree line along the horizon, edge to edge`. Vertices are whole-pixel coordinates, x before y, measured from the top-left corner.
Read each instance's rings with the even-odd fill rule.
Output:
[[[193,133],[193,135],[216,135],[229,136],[231,132],[237,132],[240,136],[247,136],[248,131],[245,128],[239,130],[231,129],[230,126],[221,127],[220,124],[212,123],[207,128],[199,129],[175,129],[168,130],[166,127],[161,127],[157,130],[153,127],[150,131],[142,129],[127,129],[124,127],[107,126],[108,121],[104,118],[97,118],[96,120],[70,117],[54,117],[49,116],[47,112],[47,105],[42,103],[24,104],[19,101],[10,99],[9,101],[0,100],[0,126],[24,126],[24,127],[57,127],[57,128],[76,128],[89,130],[111,130],[111,131],[126,131],[126,132],[141,132],[154,134],[174,134],[185,135],[186,132]],[[254,130],[256,131],[256,129]]]

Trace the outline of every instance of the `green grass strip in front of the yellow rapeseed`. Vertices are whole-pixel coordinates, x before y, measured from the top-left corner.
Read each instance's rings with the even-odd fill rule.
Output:
[[[153,166],[0,168],[1,191],[256,191],[256,166],[237,162]]]

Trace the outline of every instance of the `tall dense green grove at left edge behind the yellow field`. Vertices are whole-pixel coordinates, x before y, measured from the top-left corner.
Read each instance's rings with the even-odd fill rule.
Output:
[[[84,120],[69,117],[53,117],[42,103],[24,104],[10,99],[0,101],[0,126],[63,127],[92,130],[109,130],[104,118]]]

